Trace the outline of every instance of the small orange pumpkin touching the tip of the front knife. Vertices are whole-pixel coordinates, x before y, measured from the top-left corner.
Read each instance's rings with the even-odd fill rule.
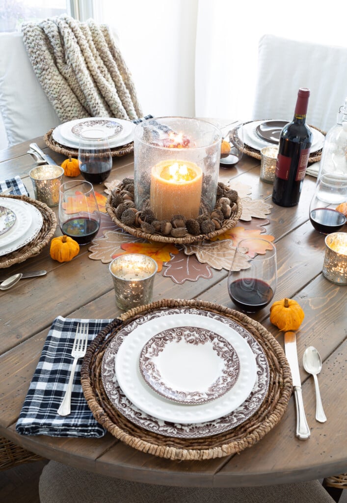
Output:
[[[284,332],[297,330],[304,319],[301,306],[292,299],[282,299],[270,307],[270,321]]]

